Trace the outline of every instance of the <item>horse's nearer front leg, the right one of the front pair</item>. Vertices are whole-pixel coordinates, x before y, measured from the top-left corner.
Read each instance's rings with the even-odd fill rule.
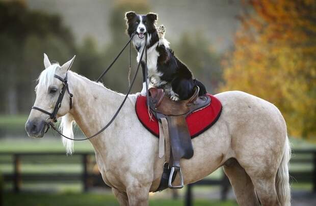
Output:
[[[139,182],[133,183],[126,188],[130,206],[147,206],[150,185],[144,185]]]

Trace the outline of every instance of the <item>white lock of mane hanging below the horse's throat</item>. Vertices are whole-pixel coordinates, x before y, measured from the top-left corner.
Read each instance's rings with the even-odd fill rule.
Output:
[[[60,123],[60,130],[63,135],[73,138],[73,126],[74,120],[73,117],[70,113],[67,113],[62,117],[62,121]],[[73,153],[73,140],[67,139],[62,136],[62,142],[66,148],[66,153],[67,154],[72,154]]]

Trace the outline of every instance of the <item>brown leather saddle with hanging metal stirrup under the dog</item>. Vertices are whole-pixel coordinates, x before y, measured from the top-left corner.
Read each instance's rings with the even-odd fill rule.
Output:
[[[198,86],[188,100],[172,101],[164,94],[163,89],[151,88],[149,94],[150,111],[159,120],[160,126],[159,157],[166,156],[162,179],[156,191],[162,191],[168,187],[179,189],[183,187],[180,159],[190,159],[194,154],[186,117],[208,106],[210,97],[207,95],[199,97]],[[180,185],[174,186],[172,182],[177,172]]]

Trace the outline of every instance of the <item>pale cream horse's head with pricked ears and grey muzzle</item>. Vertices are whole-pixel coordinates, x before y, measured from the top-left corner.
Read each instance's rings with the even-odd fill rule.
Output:
[[[27,123],[25,123],[25,130],[30,137],[44,136],[47,124],[54,121],[51,118],[52,115],[50,115],[54,111],[56,111],[56,118],[69,112],[70,94],[68,92],[64,92],[60,105],[57,105],[57,101],[63,92],[62,89],[66,90],[62,80],[66,77],[74,57],[63,66],[60,66],[59,64],[50,64],[47,55],[44,54],[45,69],[38,78],[38,84],[35,87],[36,100],[34,107],[31,110]]]

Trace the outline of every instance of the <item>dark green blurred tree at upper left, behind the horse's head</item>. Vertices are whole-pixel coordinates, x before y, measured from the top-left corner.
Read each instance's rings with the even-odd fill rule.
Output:
[[[21,2],[0,2],[1,110],[26,112],[33,104],[34,77],[43,69],[43,53],[66,61],[73,37],[59,16],[29,11]],[[30,81],[32,83],[30,84]]]

